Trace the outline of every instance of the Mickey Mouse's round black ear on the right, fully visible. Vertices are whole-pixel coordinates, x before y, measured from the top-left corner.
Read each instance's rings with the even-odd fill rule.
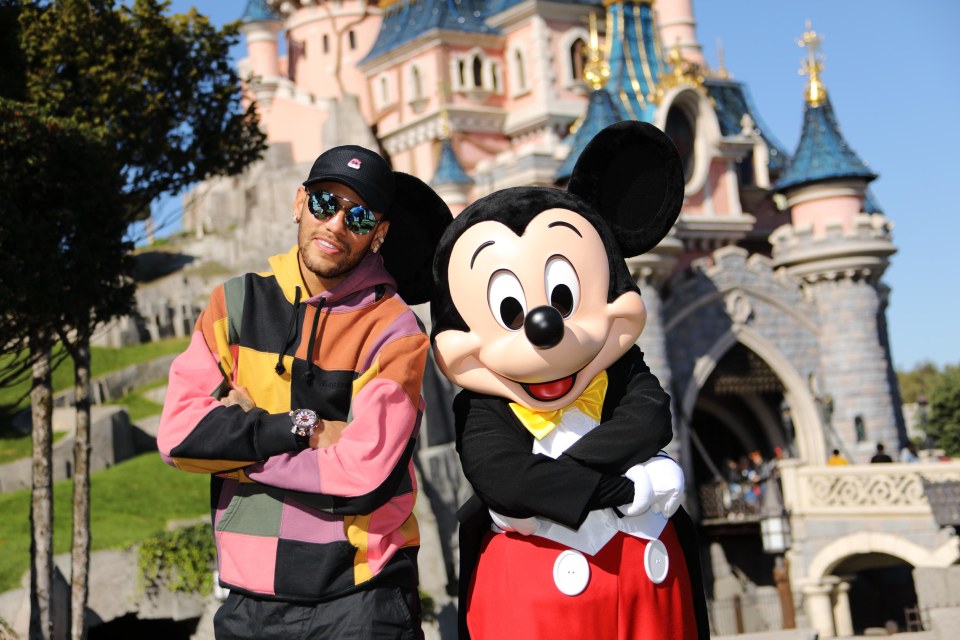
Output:
[[[653,249],[670,232],[683,205],[683,185],[683,163],[667,134],[627,120],[587,144],[567,191],[594,205],[629,258]]]

